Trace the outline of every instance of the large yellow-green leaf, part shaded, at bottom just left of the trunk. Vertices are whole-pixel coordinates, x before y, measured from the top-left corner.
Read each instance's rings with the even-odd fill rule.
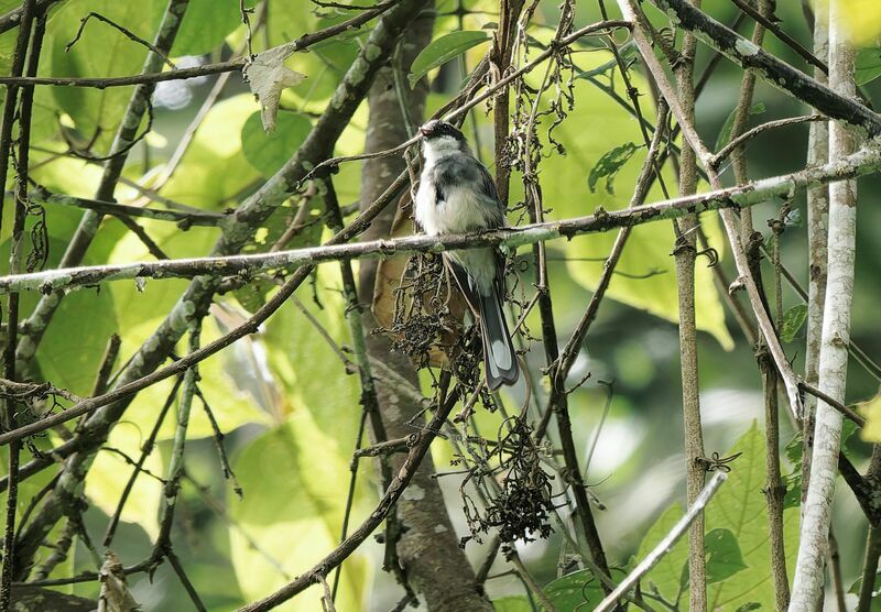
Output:
[[[338,544],[348,461],[334,437],[303,411],[251,441],[233,469],[244,498],[228,495],[239,526],[230,528],[231,560],[244,599],[252,601],[307,570]],[[338,610],[361,609],[368,567],[361,555],[346,560]],[[313,588],[279,610],[320,611],[319,597],[320,587]]]

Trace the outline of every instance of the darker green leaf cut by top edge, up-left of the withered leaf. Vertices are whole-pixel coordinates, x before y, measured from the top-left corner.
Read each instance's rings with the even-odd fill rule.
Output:
[[[244,8],[257,4],[246,0]],[[253,14],[251,28],[254,26]],[[241,24],[239,0],[189,0],[172,55],[205,55],[224,44],[227,34]]]

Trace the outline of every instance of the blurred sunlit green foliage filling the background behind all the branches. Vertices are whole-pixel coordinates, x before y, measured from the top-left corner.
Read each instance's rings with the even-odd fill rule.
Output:
[[[4,13],[19,3],[17,0],[1,1],[0,12]],[[144,50],[105,24],[89,23],[81,40],[69,52],[65,52],[65,45],[74,37],[79,20],[88,11],[100,12],[150,39],[165,4],[164,0],[67,0],[61,3],[52,12],[48,23],[41,75],[138,74]],[[172,53],[178,66],[226,59],[241,52],[244,31],[238,4],[237,0],[191,0]],[[254,2],[246,4],[253,6]],[[265,11],[262,18],[265,26],[258,29],[254,35],[254,51],[274,46],[347,17],[345,11],[316,11],[308,0],[272,0],[259,4],[263,8],[258,7],[258,11]],[[867,2],[855,1],[853,4],[855,14],[858,15],[855,19],[857,25],[869,21],[868,18],[863,19],[864,15],[881,12]],[[497,14],[494,2],[465,0],[461,6],[467,9],[466,14],[450,14],[456,12],[458,6],[456,0],[437,2],[442,17],[437,20],[435,39],[457,30],[480,31],[493,26]],[[725,23],[732,23],[737,17],[736,7],[727,0],[707,0],[704,10]],[[787,33],[805,46],[811,46],[809,30],[801,3],[780,2],[776,14]],[[557,17],[556,2],[542,2],[530,35],[537,42],[548,40]],[[659,23],[662,22],[660,14],[653,17],[657,18]],[[578,3],[576,25],[599,19],[594,2]],[[741,28],[744,33],[750,30],[749,22]],[[862,30],[855,35],[867,46],[875,43],[871,33],[866,34]],[[13,41],[14,32],[0,36],[3,72],[9,66]],[[143,201],[139,189],[161,187],[162,197],[199,209],[224,211],[235,207],[281,167],[303,141],[354,58],[359,41],[360,36],[334,40],[308,54],[289,59],[291,67],[308,78],[284,92],[279,125],[270,135],[263,133],[259,107],[247,86],[238,75],[231,76],[170,178],[163,175],[167,161],[185,138],[218,77],[160,84],[154,98],[152,131],[132,152],[124,172],[127,183],[117,189],[117,198],[122,203],[139,203]],[[772,53],[807,69],[804,62],[774,36],[766,35],[765,41],[765,47]],[[590,188],[588,175],[598,160],[616,147],[640,143],[641,136],[635,120],[597,87],[597,83],[607,88],[611,86],[623,95],[620,79],[610,80],[608,72],[598,70],[610,62],[611,55],[589,44],[578,46],[574,55],[581,70],[573,80],[575,106],[556,130],[566,154],[552,153],[542,165],[542,188],[545,203],[553,209],[551,218],[588,215],[599,206],[606,209],[627,206],[645,154],[644,150],[637,150],[608,188],[603,182],[596,185],[595,189]],[[434,79],[429,111],[456,94],[463,75],[475,66],[486,50],[487,45],[478,45],[429,73],[429,78]],[[709,51],[698,45],[698,75],[710,58]],[[639,75],[639,68],[633,73],[635,85],[645,101],[643,108],[652,109],[654,105],[644,78]],[[542,74],[543,70],[539,68],[527,81],[540,79]],[[740,78],[740,70],[724,61],[698,99],[698,128],[709,143],[717,141],[733,108]],[[868,84],[864,92],[870,102],[881,103],[881,89],[877,83]],[[100,177],[99,166],[65,155],[64,152],[72,145],[84,143],[91,143],[97,151],[106,149],[129,95],[128,88],[37,88],[33,178],[53,192],[91,197]],[[761,83],[757,86],[755,101],[761,103],[761,113],[752,118],[751,124],[803,114],[808,110]],[[491,167],[492,125],[491,117],[485,110],[483,107],[475,109],[472,120],[466,122],[466,134],[477,144],[482,160]],[[650,120],[652,112],[646,112]],[[366,123],[367,110],[362,108],[340,139],[338,154],[354,154],[362,150]],[[747,151],[751,177],[772,176],[803,167],[806,142],[807,124],[759,136]],[[726,172],[725,177],[729,184],[733,183],[730,171]],[[515,175],[512,185],[516,186],[518,182]],[[675,185],[672,172],[667,175],[667,184]],[[357,201],[360,187],[358,163],[342,166],[336,177],[336,187],[341,204]],[[707,188],[706,184],[700,187]],[[881,184],[877,178],[866,178],[860,181],[859,189],[852,339],[868,354],[878,359],[881,357],[881,326],[877,317],[878,277],[881,274],[881,240],[878,233],[881,209],[875,206],[875,200],[881,195]],[[520,197],[522,189],[514,188],[512,204]],[[648,200],[662,197],[655,187]],[[781,204],[768,203],[754,210],[758,229],[770,234],[765,220],[776,216]],[[250,250],[267,250],[271,245],[279,228],[283,228],[294,212],[292,205],[287,206],[284,215],[273,221],[276,225],[270,225],[259,232]],[[6,207],[8,214],[11,208]],[[803,195],[795,198],[793,209],[792,222],[783,234],[783,259],[805,284],[807,270],[803,220],[806,210]],[[77,209],[47,205],[51,238],[48,265],[57,264],[79,216]],[[314,242],[322,236],[317,209],[309,212],[309,219],[313,222],[311,229],[297,237],[290,247]],[[516,214],[512,215],[511,220],[519,220]],[[701,221],[713,245],[721,254],[719,265],[732,278],[732,264],[726,256],[717,220],[706,215]],[[10,220],[6,219],[3,259],[9,250],[10,226]],[[203,255],[217,237],[215,228],[183,231],[173,223],[160,221],[144,221],[143,226],[173,258]],[[663,531],[656,531],[660,527],[652,526],[656,521],[657,525],[668,525],[676,512],[674,505],[684,502],[676,284],[673,259],[670,256],[673,238],[667,223],[641,227],[634,232],[618,266],[619,273],[613,277],[608,294],[611,299],[603,302],[569,381],[576,383],[587,372],[592,374],[586,385],[569,396],[569,406],[583,461],[589,459],[587,480],[592,493],[606,509],[597,512],[599,531],[611,562],[619,567],[631,564],[633,556],[644,551],[648,544],[659,537],[657,534],[663,534]],[[602,269],[601,258],[608,253],[612,240],[611,233],[591,234],[567,243],[558,241],[551,244],[551,284],[562,341],[568,338],[590,298],[590,289]],[[522,256],[525,262],[527,258]],[[87,263],[145,259],[150,259],[150,254],[143,244],[127,233],[118,220],[107,219],[89,250]],[[711,272],[705,264],[705,260],[698,259],[698,328],[701,330],[699,374],[706,449],[707,453],[727,456],[732,448],[742,449],[761,440],[758,437],[763,413],[761,382],[752,349],[725,310],[713,285]],[[523,282],[530,282],[527,272],[523,273]],[[220,430],[226,434],[226,446],[237,483],[224,479],[211,439],[210,423],[205,412],[198,409],[197,403],[189,428],[186,477],[174,538],[183,564],[211,610],[230,610],[267,594],[311,567],[338,540],[349,481],[349,458],[358,427],[358,382],[355,376],[342,374],[335,347],[318,337],[311,318],[320,323],[337,347],[349,343],[348,328],[342,318],[340,284],[336,267],[322,267],[309,287],[300,292],[300,302],[287,304],[259,336],[240,341],[231,350],[208,359],[199,368],[205,401],[210,405]],[[121,335],[124,361],[162,320],[184,286],[184,281],[150,281],[141,291],[133,283],[115,283],[101,291],[84,289],[69,295],[37,352],[40,375],[75,393],[88,394],[109,335]],[[265,291],[267,287],[246,287],[235,295],[218,299],[211,317],[206,320],[203,343],[241,323],[249,312],[259,306]],[[783,299],[785,307],[801,303],[788,288]],[[34,303],[34,296],[25,295],[24,312],[30,312]],[[527,320],[527,326],[537,335],[540,325],[536,316]],[[797,371],[802,370],[803,346],[803,331],[786,345]],[[533,372],[537,373],[543,364],[537,343],[533,342],[527,359],[534,367]],[[534,376],[537,380],[537,374]],[[127,412],[124,420],[113,429],[108,446],[137,457],[171,386],[171,381],[165,381],[142,392]],[[878,379],[851,362],[848,401],[867,400],[878,389]],[[544,393],[541,385],[535,391]],[[511,406],[518,406],[523,393],[521,385],[505,392],[504,398]],[[499,419],[498,415],[485,413],[478,416],[478,424],[482,431],[494,431],[499,427]],[[782,418],[782,427],[783,441],[788,442],[794,435],[793,426]],[[160,427],[156,451],[145,465],[152,473],[161,474],[167,468],[173,433],[174,420],[167,418]],[[57,444],[57,439],[55,434],[50,434],[35,444],[46,449]],[[761,447],[761,444],[758,446]],[[849,438],[848,448],[855,453],[858,465],[861,466],[868,458],[869,445],[858,436]],[[446,442],[438,440],[433,452],[438,471],[455,469],[450,466],[453,451]],[[763,450],[744,457],[761,467],[763,461],[759,452]],[[737,478],[727,484],[730,494],[740,491],[749,499],[738,501],[722,498],[715,503],[741,503],[744,509],[758,509],[761,512],[763,496],[761,484],[758,484],[761,479],[752,484],[738,484],[738,478],[751,473],[750,467],[746,459],[735,461],[731,467],[732,476]],[[377,499],[377,479],[367,463],[362,465],[362,469],[368,477],[359,481],[354,513],[356,524],[366,516]],[[792,466],[788,466],[784,471],[791,469]],[[760,476],[762,470],[759,471]],[[85,516],[87,528],[96,542],[101,539],[108,515],[116,509],[130,472],[131,467],[118,453],[98,453],[86,483],[90,509]],[[22,507],[50,478],[51,474],[46,472],[22,484]],[[440,482],[457,533],[465,536],[468,529],[461,512],[458,478],[445,477]],[[242,490],[241,496],[236,492],[237,487]],[[157,531],[161,489],[159,481],[141,476],[124,507],[123,522],[112,547],[127,565],[149,554],[151,538]],[[797,511],[787,512],[792,518],[787,518],[788,534],[788,525],[797,523]],[[716,524],[714,521],[709,518],[708,529]],[[719,521],[718,526],[724,526],[721,518]],[[758,527],[752,532],[749,527],[744,528],[749,533],[759,533]],[[844,485],[837,493],[834,528],[845,582],[850,584],[860,568],[866,521]],[[760,545],[755,544],[750,549]],[[522,544],[518,548],[541,583],[556,578],[558,535],[552,535],[547,540]],[[741,539],[744,567],[754,561],[747,555],[747,548],[746,540]],[[486,554],[485,545],[476,542],[469,543],[466,550],[475,562]],[[794,548],[787,553],[794,553]],[[394,581],[379,569],[381,555],[382,547],[371,539],[346,562],[337,600],[339,610],[388,610],[400,599]],[[666,578],[661,569],[652,575],[662,592],[671,588],[675,591],[679,577],[676,576],[676,568],[671,567],[665,570],[668,571]],[[681,564],[678,567],[682,567]],[[94,559],[79,543],[68,561],[56,568],[53,576],[72,576],[87,569],[95,569]],[[503,569],[503,564],[499,562],[499,569]],[[494,571],[490,573],[492,576]],[[743,583],[750,580],[744,576],[749,571],[746,569],[738,573]],[[144,610],[180,610],[187,601],[180,582],[166,565],[152,578],[132,576],[131,583],[132,592]],[[65,589],[94,597],[97,587],[74,584]],[[491,579],[487,582],[487,589],[493,599],[516,598],[523,593],[523,586],[513,576]],[[759,597],[754,592],[752,595],[753,600]],[[744,597],[752,595],[748,593]],[[722,609],[736,608],[732,603],[736,598],[719,597]],[[731,608],[728,608],[729,603]],[[511,602],[512,606],[516,604]],[[287,609],[320,610],[317,590],[301,595]]]

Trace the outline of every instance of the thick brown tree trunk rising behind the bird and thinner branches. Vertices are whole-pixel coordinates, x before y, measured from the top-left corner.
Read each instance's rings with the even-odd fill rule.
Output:
[[[370,89],[370,120],[367,129],[366,151],[380,151],[394,146],[410,136],[409,121],[420,121],[427,96],[425,81],[410,90],[405,84],[409,68],[418,51],[432,36],[434,19],[426,11],[402,39],[401,66],[384,67]],[[395,68],[403,68],[395,84]],[[400,96],[400,99],[399,99]],[[406,117],[402,114],[406,113]],[[382,157],[365,163],[361,181],[361,203],[368,206],[405,167],[401,157]],[[406,201],[404,196],[402,201]],[[387,209],[365,232],[366,239],[387,238],[391,233],[394,210]],[[377,278],[377,262],[363,261],[360,266],[360,300],[370,304]],[[418,389],[418,376],[410,360],[391,352],[390,341],[369,331],[376,328],[372,315],[365,315],[367,351],[371,360],[382,362],[398,375]],[[377,396],[385,434],[390,439],[414,433],[407,423],[422,411],[412,397],[391,383],[387,376],[377,379]],[[420,419],[416,419],[420,423]],[[376,431],[373,431],[376,434]],[[400,458],[392,460],[393,470],[400,469]],[[491,610],[489,601],[480,593],[468,559],[458,546],[453,524],[437,480],[432,479],[434,463],[426,455],[410,487],[398,502],[400,539],[396,544],[400,564],[412,587],[425,599],[432,611]]]

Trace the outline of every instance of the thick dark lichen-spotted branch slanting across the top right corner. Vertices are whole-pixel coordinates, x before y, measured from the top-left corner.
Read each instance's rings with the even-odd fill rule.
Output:
[[[686,0],[653,0],[681,28],[769,85],[814,107],[823,114],[858,128],[869,136],[881,134],[881,116],[847,96],[762,51],[737,32],[692,7]]]

